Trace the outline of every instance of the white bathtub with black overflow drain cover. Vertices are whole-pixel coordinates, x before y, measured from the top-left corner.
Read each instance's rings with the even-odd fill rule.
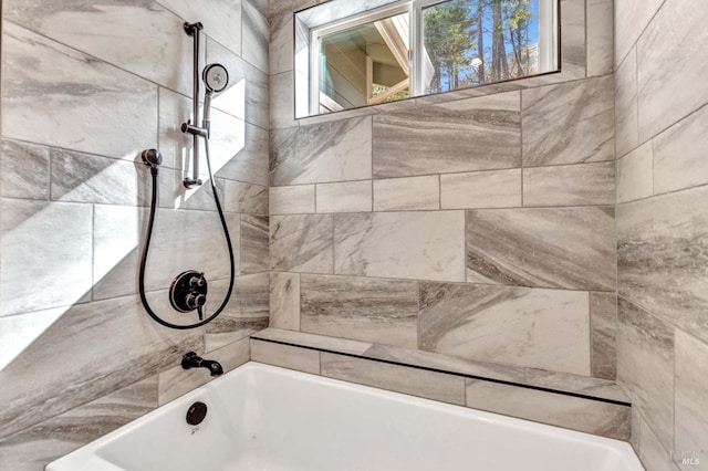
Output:
[[[643,468],[622,441],[249,363],[46,467],[82,470]]]

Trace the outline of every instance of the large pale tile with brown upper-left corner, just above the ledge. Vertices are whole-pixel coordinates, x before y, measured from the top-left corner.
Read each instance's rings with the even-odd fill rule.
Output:
[[[421,283],[418,347],[590,376],[587,293]]]

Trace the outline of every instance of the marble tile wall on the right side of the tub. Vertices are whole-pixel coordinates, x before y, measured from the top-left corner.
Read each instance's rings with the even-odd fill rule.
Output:
[[[708,462],[708,6],[615,1],[617,376],[647,470]],[[669,69],[657,63],[671,57]],[[697,458],[699,463],[683,461]]]

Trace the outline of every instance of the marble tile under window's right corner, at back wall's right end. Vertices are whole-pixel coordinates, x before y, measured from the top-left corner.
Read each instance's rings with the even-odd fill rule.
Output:
[[[521,92],[523,165],[614,159],[613,78]]]

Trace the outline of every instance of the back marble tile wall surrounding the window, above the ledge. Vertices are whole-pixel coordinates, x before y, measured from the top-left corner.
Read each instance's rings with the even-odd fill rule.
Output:
[[[614,379],[613,1],[558,74],[298,119],[317,3],[270,2],[270,325]]]

